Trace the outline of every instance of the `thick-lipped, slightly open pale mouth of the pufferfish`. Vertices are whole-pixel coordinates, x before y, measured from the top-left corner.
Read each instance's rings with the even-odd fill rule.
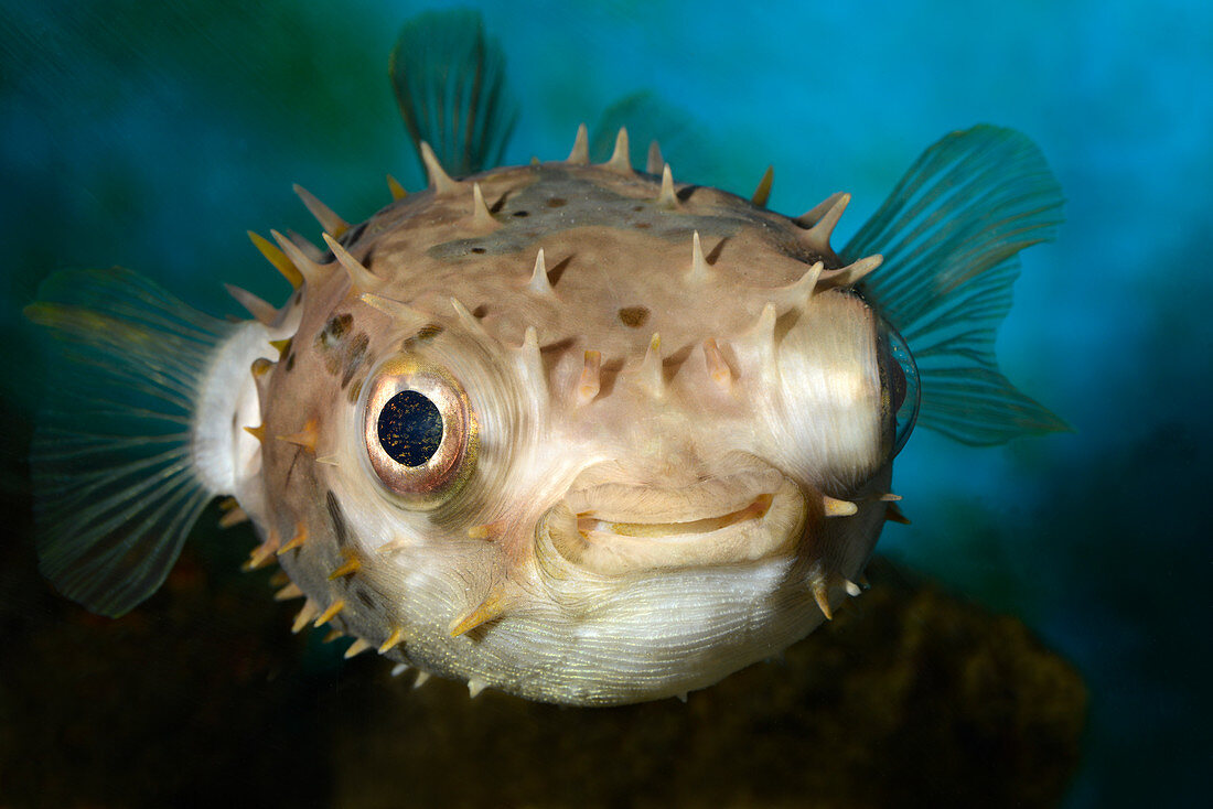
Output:
[[[790,554],[804,526],[801,488],[754,456],[729,468],[682,486],[575,485],[540,520],[537,539],[604,576]]]

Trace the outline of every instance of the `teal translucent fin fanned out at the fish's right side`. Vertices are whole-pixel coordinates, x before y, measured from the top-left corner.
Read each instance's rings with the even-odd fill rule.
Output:
[[[1016,253],[1053,238],[1061,188],[1026,136],[981,125],[927,149],[843,249],[883,253],[859,289],[918,363],[918,423],[964,444],[1069,429],[998,372],[995,331],[1010,309]]]

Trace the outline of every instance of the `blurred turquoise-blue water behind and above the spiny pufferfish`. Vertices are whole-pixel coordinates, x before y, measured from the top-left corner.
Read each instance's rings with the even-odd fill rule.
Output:
[[[0,5],[4,395],[40,371],[19,307],[47,273],[123,264],[200,308],[285,284],[245,229],[308,230],[300,182],[346,218],[421,183],[386,79],[399,23],[443,4]],[[1030,250],[1003,370],[1072,434],[968,449],[916,434],[909,528],[881,548],[1020,615],[1092,689],[1069,805],[1185,805],[1213,753],[1207,576],[1207,257],[1213,12],[1196,2],[465,2],[502,40],[507,153],[564,155],[577,123],[649,90],[687,121],[680,177],[797,213],[854,196],[841,239],[946,131],[1013,126],[1069,199]],[[679,153],[679,147],[683,149]],[[637,149],[638,152],[639,149]],[[21,437],[5,478],[19,486]]]

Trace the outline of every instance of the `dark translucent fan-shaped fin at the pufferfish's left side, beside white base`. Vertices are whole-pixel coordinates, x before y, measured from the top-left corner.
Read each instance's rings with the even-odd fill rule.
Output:
[[[118,616],[164,581],[213,492],[190,455],[207,360],[234,325],[114,268],[47,279],[25,315],[55,340],[30,454],[42,574]]]

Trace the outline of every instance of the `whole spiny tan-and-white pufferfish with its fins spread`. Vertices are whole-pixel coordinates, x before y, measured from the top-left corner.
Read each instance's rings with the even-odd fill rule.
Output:
[[[500,55],[460,28],[457,69],[416,68],[446,23],[406,28],[393,67],[428,187],[357,226],[301,192],[324,249],[254,237],[285,304],[233,290],[254,315],[233,324],[112,269],[28,307],[69,364],[33,452],[68,597],[132,609],[223,496],[250,566],[303,599],[295,631],[347,656],[473,695],[685,697],[861,592],[916,421],[972,444],[1063,427],[992,352],[1016,252],[1059,221],[1023,135],[949,135],[835,250],[845,194],[784,216],[769,177],[744,199],[660,148],[634,170],[626,130],[605,163],[582,126],[563,160],[477,165],[508,136]],[[444,119],[427,87],[455,93]]]

